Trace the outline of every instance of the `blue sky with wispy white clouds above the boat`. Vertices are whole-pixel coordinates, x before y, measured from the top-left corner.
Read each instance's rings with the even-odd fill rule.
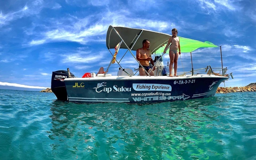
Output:
[[[0,89],[42,90],[51,87],[52,71],[69,68],[82,77],[107,68],[112,58],[106,47],[109,25],[167,34],[177,28],[178,36],[221,45],[223,67],[234,75],[226,87],[256,82],[255,1],[1,0],[0,4]],[[126,55],[122,67],[138,68]],[[194,69],[221,67],[220,48],[198,49],[192,58]],[[164,65],[167,60],[165,54]],[[178,72],[183,72],[182,65],[190,71],[190,53],[181,51],[181,60]],[[111,65],[109,73],[116,75],[117,70],[117,64]]]

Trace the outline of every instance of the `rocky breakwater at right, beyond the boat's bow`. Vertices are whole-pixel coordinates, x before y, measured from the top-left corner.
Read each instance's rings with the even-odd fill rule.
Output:
[[[251,83],[245,87],[218,87],[216,93],[234,93],[234,92],[256,92],[256,83]]]

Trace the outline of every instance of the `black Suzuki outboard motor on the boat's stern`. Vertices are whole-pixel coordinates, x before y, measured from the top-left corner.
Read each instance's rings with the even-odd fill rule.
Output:
[[[74,77],[75,75],[70,73],[70,76]],[[66,70],[52,72],[51,88],[58,100],[68,100],[66,85],[64,83],[65,78],[68,78],[68,71]]]

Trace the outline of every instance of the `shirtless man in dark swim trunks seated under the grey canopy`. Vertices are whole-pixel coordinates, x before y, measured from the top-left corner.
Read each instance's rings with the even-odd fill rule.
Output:
[[[151,58],[151,52],[148,49],[150,47],[150,42],[147,39],[144,39],[142,42],[142,48],[137,49],[136,59],[140,62],[143,68],[139,65],[140,76],[146,76],[146,72],[150,72],[152,67],[149,66],[149,61],[154,66],[154,62]],[[153,68],[155,70],[155,67]],[[150,72],[150,76],[154,76],[154,72]]]

